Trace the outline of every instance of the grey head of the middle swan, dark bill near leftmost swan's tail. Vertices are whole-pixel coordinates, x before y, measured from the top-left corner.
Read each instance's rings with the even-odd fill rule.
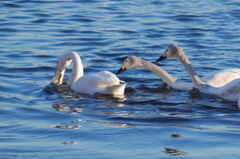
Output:
[[[130,56],[128,58],[126,58],[123,61],[123,64],[121,66],[121,68],[118,70],[118,72],[116,74],[120,74],[124,71],[127,71],[131,68],[136,68],[136,67],[140,67],[141,65],[141,59],[136,57],[136,56]]]

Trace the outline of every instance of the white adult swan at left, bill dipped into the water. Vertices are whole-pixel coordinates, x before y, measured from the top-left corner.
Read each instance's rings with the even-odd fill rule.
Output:
[[[73,62],[73,69],[67,85],[78,93],[90,94],[114,94],[123,95],[126,87],[124,81],[109,71],[100,71],[96,74],[84,75],[83,65],[80,56],[76,52],[63,54],[59,57],[56,65],[56,73],[52,83],[61,85],[66,68]]]

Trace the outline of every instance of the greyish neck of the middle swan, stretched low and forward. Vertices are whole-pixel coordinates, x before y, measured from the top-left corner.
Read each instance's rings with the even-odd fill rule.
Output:
[[[165,70],[163,70],[161,67],[159,67],[151,62],[145,61],[143,59],[141,59],[139,67],[143,67],[143,68],[153,72],[158,77],[160,77],[164,83],[166,83],[170,86],[172,85],[172,83],[174,83],[177,80],[176,78],[174,78],[170,74],[168,74]]]

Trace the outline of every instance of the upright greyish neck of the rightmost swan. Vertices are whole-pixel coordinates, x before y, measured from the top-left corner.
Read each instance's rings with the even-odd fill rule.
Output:
[[[182,65],[185,67],[186,71],[188,72],[193,85],[195,88],[198,88],[198,86],[200,84],[204,84],[204,82],[202,82],[202,80],[199,78],[199,76],[197,75],[196,71],[194,70],[194,68],[191,65],[191,62],[188,60],[187,56],[185,55],[184,51],[182,49],[178,49],[179,52],[179,56],[177,57],[177,59],[182,63]]]

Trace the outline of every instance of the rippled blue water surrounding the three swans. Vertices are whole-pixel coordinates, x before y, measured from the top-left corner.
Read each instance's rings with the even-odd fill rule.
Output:
[[[0,158],[239,158],[236,103],[176,91],[144,69],[119,75],[124,97],[50,84],[77,51],[86,74],[181,46],[200,76],[239,68],[238,0],[2,0]],[[174,59],[159,66],[189,81]],[[66,78],[70,71],[67,72]]]

